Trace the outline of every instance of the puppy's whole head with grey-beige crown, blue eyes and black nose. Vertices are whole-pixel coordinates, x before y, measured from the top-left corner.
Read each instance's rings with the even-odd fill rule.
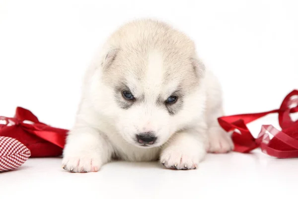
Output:
[[[160,146],[201,115],[204,66],[184,34],[137,21],[115,32],[106,49],[91,98],[127,142]]]

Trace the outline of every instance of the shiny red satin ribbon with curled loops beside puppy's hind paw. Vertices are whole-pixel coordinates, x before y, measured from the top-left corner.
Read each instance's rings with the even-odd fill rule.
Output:
[[[260,147],[263,153],[277,158],[298,157],[298,120],[292,121],[290,117],[290,113],[298,112],[298,98],[293,97],[298,97],[298,90],[288,94],[279,109],[219,117],[218,121],[224,130],[233,131],[234,151],[248,153]],[[282,130],[278,130],[272,125],[262,125],[258,137],[254,138],[246,124],[270,113],[278,113]],[[240,133],[235,132],[235,129],[238,129]],[[273,135],[272,139],[269,137],[269,133]]]

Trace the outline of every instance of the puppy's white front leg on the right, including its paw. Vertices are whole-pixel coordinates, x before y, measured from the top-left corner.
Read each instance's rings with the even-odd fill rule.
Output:
[[[206,154],[205,140],[204,134],[197,130],[177,132],[163,146],[161,164],[178,170],[196,169]]]

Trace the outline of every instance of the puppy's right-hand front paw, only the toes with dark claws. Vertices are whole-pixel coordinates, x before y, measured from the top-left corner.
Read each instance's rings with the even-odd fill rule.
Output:
[[[200,162],[198,151],[191,151],[175,146],[164,149],[160,155],[160,163],[166,168],[175,170],[196,169]]]

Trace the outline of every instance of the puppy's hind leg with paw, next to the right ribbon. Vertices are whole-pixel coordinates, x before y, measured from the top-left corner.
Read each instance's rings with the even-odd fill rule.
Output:
[[[207,116],[209,137],[208,152],[210,153],[227,153],[234,149],[230,134],[224,131],[217,120],[218,117],[223,115],[223,107],[219,101],[217,106],[214,106]]]

